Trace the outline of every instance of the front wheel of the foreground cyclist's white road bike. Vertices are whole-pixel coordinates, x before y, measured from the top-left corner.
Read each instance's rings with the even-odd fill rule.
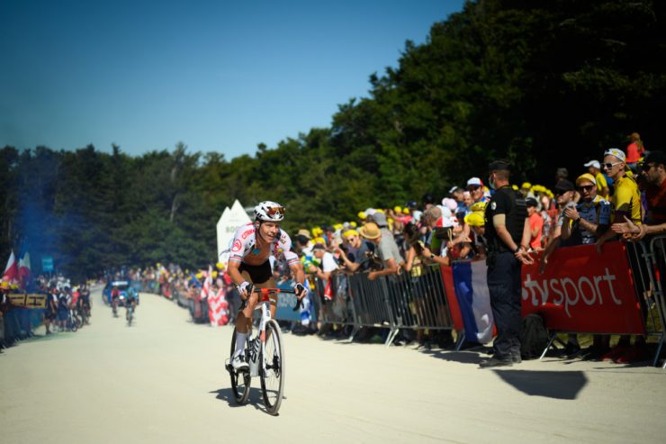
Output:
[[[276,415],[284,394],[284,346],[280,326],[273,319],[266,323],[266,344],[259,362],[266,362],[266,370],[259,369],[266,411]]]

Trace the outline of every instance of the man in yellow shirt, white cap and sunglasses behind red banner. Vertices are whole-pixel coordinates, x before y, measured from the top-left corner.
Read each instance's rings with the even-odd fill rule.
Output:
[[[611,222],[623,222],[626,216],[631,222],[641,225],[643,219],[641,214],[641,193],[638,191],[638,185],[634,177],[626,174],[625,152],[617,148],[607,150],[604,153],[603,168],[615,184],[615,193],[610,197],[610,203],[613,205]],[[608,230],[602,234],[599,240],[597,240],[597,251],[600,253],[602,245],[615,236],[616,233],[612,230]]]

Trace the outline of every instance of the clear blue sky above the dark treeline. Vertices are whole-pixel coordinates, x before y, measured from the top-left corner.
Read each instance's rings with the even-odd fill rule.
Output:
[[[0,2],[0,147],[227,159],[328,127],[463,0]]]

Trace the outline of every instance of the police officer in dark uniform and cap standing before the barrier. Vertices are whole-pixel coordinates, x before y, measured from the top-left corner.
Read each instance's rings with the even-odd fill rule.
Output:
[[[492,358],[480,367],[511,366],[520,362],[521,264],[534,260],[527,253],[531,232],[525,198],[509,186],[509,163],[496,160],[489,166],[489,184],[497,191],[486,206],[488,241],[488,290],[497,327]]]

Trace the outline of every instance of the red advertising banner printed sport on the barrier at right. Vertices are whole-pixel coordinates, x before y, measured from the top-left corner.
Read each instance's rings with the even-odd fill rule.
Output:
[[[544,315],[548,329],[644,334],[645,324],[625,245],[608,242],[556,249],[544,274],[523,266],[523,316]]]

